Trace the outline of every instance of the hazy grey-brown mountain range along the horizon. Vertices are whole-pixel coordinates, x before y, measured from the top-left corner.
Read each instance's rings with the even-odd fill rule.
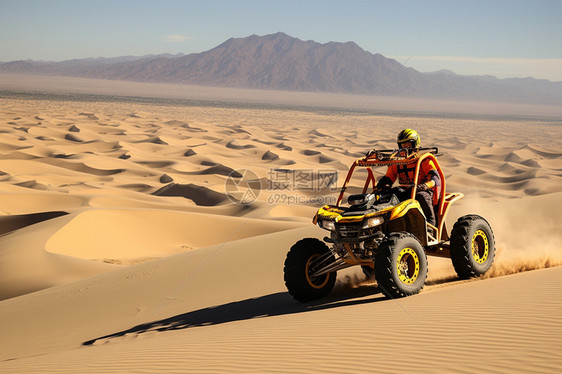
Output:
[[[338,92],[516,103],[562,103],[562,82],[422,73],[354,42],[325,44],[284,33],[231,38],[201,53],[0,63],[1,73],[215,87]]]

